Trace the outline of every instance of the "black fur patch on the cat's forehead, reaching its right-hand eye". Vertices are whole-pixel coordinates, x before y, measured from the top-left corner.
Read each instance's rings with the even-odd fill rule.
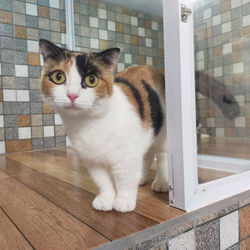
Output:
[[[85,78],[87,75],[100,75],[99,69],[91,63],[87,54],[81,54],[76,56],[76,67],[81,76],[81,86],[86,89]]]

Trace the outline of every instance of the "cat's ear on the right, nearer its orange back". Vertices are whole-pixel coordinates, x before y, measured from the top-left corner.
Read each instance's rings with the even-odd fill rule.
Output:
[[[121,49],[120,48],[112,48],[104,50],[100,53],[96,53],[97,57],[105,63],[107,69],[113,71],[114,66],[117,64],[117,61],[120,57]]]

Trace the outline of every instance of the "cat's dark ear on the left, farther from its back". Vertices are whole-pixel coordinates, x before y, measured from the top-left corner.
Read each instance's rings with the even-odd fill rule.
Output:
[[[40,39],[39,46],[40,51],[43,55],[44,62],[46,62],[47,59],[53,59],[58,62],[64,60],[65,49],[61,49],[60,47],[46,39]]]

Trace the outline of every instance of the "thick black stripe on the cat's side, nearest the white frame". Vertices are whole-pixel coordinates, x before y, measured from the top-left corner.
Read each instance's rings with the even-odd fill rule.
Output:
[[[148,93],[154,135],[157,136],[163,124],[163,112],[158,94],[146,81],[141,81]]]

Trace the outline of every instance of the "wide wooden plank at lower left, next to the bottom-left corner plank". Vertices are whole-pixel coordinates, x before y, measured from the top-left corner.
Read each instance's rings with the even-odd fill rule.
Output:
[[[109,242],[12,177],[0,182],[0,190],[0,205],[36,249],[87,249]]]

